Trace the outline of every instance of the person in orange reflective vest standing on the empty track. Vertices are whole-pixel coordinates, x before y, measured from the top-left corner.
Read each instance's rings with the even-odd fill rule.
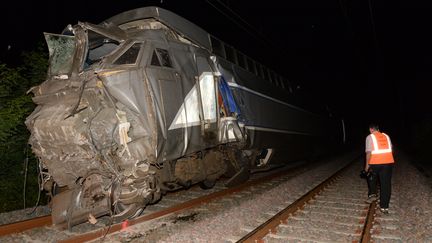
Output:
[[[393,150],[390,137],[379,131],[378,125],[369,125],[370,134],[366,137],[365,171],[368,177],[368,200],[377,199],[377,183],[380,183],[380,210],[387,214],[391,197],[391,177],[393,173]]]

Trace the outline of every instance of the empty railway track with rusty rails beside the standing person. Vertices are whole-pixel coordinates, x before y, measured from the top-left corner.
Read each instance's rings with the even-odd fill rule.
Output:
[[[377,202],[365,202],[365,185],[358,184],[352,167],[348,164],[237,242],[371,242],[372,237],[375,242],[397,241],[397,233],[380,237],[373,228],[380,221],[376,217],[387,216]]]

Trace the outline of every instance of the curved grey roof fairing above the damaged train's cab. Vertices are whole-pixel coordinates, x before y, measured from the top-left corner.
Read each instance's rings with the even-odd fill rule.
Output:
[[[111,22],[117,26],[141,19],[154,18],[174,29],[185,38],[211,50],[209,33],[189,20],[159,7],[143,7],[117,14],[104,22]]]

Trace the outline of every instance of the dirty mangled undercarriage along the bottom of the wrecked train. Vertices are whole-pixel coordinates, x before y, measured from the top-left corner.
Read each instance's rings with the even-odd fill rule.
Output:
[[[145,173],[123,180],[99,172],[80,178],[75,188],[59,187],[47,180],[45,189],[52,195],[53,222],[70,227],[104,215],[121,221],[140,215],[146,205],[157,203],[169,191],[197,183],[210,189],[220,177],[229,178],[226,185],[234,186],[249,178],[249,169],[256,166],[251,164],[256,163],[256,155],[249,150],[239,154],[238,150],[217,148],[151,165]]]

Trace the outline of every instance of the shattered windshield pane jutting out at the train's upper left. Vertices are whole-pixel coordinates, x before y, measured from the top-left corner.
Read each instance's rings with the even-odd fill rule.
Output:
[[[76,38],[70,35],[44,33],[49,51],[49,75],[69,75],[72,72]]]

